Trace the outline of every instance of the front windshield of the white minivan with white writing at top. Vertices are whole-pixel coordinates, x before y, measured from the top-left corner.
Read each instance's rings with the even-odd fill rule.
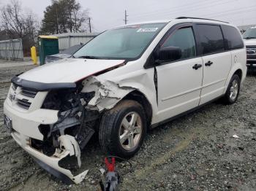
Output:
[[[166,23],[125,26],[105,31],[85,44],[75,58],[129,59],[137,58],[146,50]]]

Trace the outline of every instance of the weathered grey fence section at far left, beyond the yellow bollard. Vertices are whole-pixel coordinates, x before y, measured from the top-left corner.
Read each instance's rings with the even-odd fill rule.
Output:
[[[6,60],[23,60],[22,39],[0,41],[0,58]]]

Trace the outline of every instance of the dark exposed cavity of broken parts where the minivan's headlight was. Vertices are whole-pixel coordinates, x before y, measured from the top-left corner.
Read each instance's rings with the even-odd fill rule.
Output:
[[[59,110],[59,120],[53,125],[40,125],[44,141],[41,145],[35,142],[35,145],[48,145],[48,141],[51,141],[53,147],[59,147],[59,136],[70,135],[75,137],[80,149],[83,149],[93,135],[94,122],[99,117],[97,111],[86,111],[86,105],[93,96],[94,93],[80,93],[78,88],[50,91],[42,109]]]

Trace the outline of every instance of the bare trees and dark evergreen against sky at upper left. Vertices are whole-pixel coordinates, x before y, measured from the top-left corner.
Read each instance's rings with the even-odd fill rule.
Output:
[[[76,0],[52,0],[39,20],[21,1],[11,0],[0,7],[0,40],[23,39],[24,53],[37,42],[40,34],[83,32],[89,28],[89,10]]]

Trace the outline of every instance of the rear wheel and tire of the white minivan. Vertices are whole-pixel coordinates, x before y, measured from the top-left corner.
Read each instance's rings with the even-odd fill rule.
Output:
[[[236,85],[236,86],[235,86]],[[241,85],[241,79],[238,77],[237,74],[234,74],[233,77],[230,79],[230,83],[227,87],[227,91],[222,98],[223,104],[234,104],[237,99],[238,95],[240,93],[240,85]]]

